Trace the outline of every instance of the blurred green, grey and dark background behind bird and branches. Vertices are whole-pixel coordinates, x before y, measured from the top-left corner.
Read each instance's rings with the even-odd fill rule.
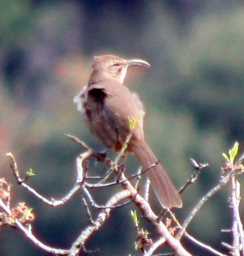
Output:
[[[178,187],[194,171],[190,157],[210,164],[182,196],[181,220],[219,180],[221,153],[236,140],[243,151],[243,1],[1,0],[0,17],[0,172],[12,183],[12,205],[25,200],[34,208],[33,230],[43,242],[69,248],[87,223],[80,195],[67,206],[43,206],[16,187],[5,154],[14,153],[21,173],[34,170],[29,184],[47,197],[62,197],[71,188],[82,148],[64,134],[103,149],[72,103],[88,80],[94,55],[151,63],[150,70],[132,67],[127,83],[145,105],[147,141]],[[220,232],[231,225],[229,193],[226,187],[208,202],[189,229],[223,252],[221,241],[231,242]],[[106,197],[99,195],[104,203]],[[95,255],[135,254],[130,208],[115,210],[88,249],[99,248]],[[208,255],[184,244],[196,255]],[[0,255],[49,254],[3,227]]]

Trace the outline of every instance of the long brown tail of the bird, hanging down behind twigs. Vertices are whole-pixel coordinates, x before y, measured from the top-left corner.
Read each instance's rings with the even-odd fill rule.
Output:
[[[137,140],[136,143],[130,146],[130,150],[136,155],[143,170],[156,164],[154,167],[149,168],[146,173],[162,206],[164,208],[181,208],[182,200],[175,185],[173,185],[163,166],[158,163],[158,160],[147,143],[143,140]]]

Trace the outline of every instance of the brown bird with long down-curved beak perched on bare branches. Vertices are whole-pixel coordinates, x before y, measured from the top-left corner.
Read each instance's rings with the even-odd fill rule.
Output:
[[[127,61],[112,55],[94,57],[88,86],[75,97],[74,103],[84,114],[91,133],[108,150],[119,151],[131,132],[127,150],[134,153],[143,169],[148,169],[146,173],[159,202],[164,208],[180,208],[182,200],[175,185],[145,142],[142,104],[136,93],[124,85],[127,69],[132,65],[150,67],[142,59]],[[134,118],[136,126],[130,130],[129,120]]]

